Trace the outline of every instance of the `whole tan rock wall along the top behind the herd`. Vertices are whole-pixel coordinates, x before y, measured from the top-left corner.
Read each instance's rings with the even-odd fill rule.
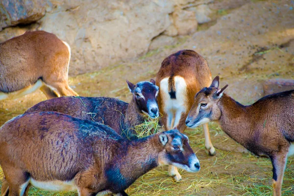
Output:
[[[0,32],[0,42],[21,35],[26,30],[52,32],[71,46],[69,74],[73,76],[138,57],[147,52],[152,39],[161,33],[176,36],[195,32],[197,18],[203,17],[203,9],[196,7],[211,0],[7,2],[1,0],[0,3],[0,14],[5,16],[0,20],[0,29],[4,28]],[[205,20],[209,21],[207,16]],[[34,21],[32,25],[7,28]]]

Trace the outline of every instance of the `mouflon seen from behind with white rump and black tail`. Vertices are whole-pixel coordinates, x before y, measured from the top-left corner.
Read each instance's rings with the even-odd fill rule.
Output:
[[[211,73],[206,60],[193,50],[180,50],[165,58],[156,76],[159,86],[158,105],[165,130],[186,129],[185,120],[194,103],[194,97],[203,87],[211,83]],[[203,125],[205,147],[215,155],[208,124]],[[170,167],[169,174],[175,181],[181,180],[176,168]]]

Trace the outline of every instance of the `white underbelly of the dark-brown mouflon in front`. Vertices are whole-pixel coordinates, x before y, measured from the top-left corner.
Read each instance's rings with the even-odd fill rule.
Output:
[[[46,191],[76,191],[77,187],[74,184],[74,180],[71,181],[36,181],[33,178],[30,179],[30,183],[39,189]]]

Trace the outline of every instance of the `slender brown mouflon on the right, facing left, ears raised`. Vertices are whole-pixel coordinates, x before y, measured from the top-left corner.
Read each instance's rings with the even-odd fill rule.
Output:
[[[219,89],[219,76],[195,97],[186,123],[196,127],[218,121],[222,130],[256,155],[268,156],[273,169],[274,196],[281,196],[287,157],[294,154],[294,90],[272,94],[242,105]]]

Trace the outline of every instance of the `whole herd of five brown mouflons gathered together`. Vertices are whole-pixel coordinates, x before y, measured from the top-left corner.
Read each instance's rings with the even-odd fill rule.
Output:
[[[0,127],[0,196],[27,196],[29,186],[77,191],[79,196],[124,192],[157,166],[200,170],[184,135],[202,125],[205,147],[215,155],[208,123],[272,163],[273,195],[281,196],[287,157],[294,154],[294,90],[242,105],[212,80],[206,60],[193,50],[165,58],[156,80],[133,84],[130,102],[78,97],[68,85],[70,46],[54,34],[32,31],[0,43],[0,100],[37,89],[47,96]],[[159,118],[164,131],[138,138],[134,127]]]

